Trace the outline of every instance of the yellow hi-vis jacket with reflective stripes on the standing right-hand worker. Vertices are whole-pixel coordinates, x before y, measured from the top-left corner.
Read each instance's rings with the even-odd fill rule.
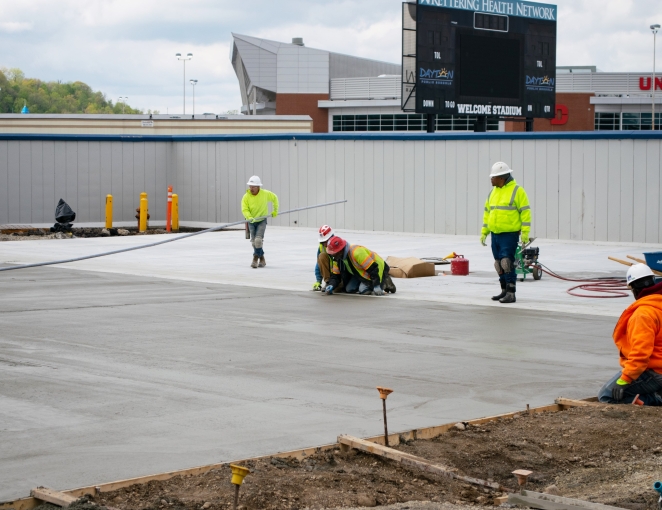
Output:
[[[502,188],[495,186],[487,196],[481,233],[520,231],[527,236],[531,231],[531,206],[526,191],[513,179]]]

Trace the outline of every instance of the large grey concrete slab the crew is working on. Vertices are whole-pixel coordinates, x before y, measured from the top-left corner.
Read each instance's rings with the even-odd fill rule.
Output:
[[[275,227],[264,269],[234,231],[0,273],[0,500],[375,435],[377,385],[395,389],[397,431],[594,395],[617,370],[630,297],[574,298],[545,275],[494,304],[475,237],[339,233],[384,257],[462,253],[472,274],[323,297],[309,290],[316,232]],[[154,240],[3,242],[0,263]],[[623,275],[607,255],[659,249],[534,244],[571,276]]]

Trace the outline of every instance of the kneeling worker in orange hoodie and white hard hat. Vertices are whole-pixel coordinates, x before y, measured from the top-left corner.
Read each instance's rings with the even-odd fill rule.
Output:
[[[662,406],[662,282],[650,267],[628,269],[628,287],[636,300],[614,329],[620,370],[598,393],[600,402],[631,404],[637,395],[647,406]]]

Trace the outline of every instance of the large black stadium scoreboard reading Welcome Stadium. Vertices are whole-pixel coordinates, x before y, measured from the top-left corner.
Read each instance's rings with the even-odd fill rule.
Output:
[[[403,110],[554,118],[556,19],[518,0],[403,4]]]

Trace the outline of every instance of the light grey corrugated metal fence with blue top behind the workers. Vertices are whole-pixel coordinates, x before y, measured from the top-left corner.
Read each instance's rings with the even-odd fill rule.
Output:
[[[169,183],[183,221],[236,221],[257,174],[281,209],[348,200],[272,224],[477,235],[503,160],[529,194],[533,235],[662,243],[657,134],[78,138],[0,140],[0,224],[53,221],[60,197],[77,221],[103,221],[107,193],[127,221],[141,191],[162,219]]]

